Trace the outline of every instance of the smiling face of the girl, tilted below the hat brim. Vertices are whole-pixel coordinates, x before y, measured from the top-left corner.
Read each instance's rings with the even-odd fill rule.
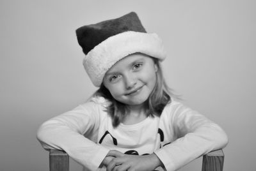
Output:
[[[127,105],[143,105],[156,85],[157,66],[152,57],[136,53],[113,65],[103,79],[115,100]]]

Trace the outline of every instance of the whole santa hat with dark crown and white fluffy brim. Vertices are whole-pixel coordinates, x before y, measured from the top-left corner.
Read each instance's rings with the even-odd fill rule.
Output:
[[[111,66],[129,54],[141,52],[160,61],[166,57],[159,36],[147,33],[134,12],[118,19],[79,27],[76,35],[86,55],[84,69],[96,87],[100,87]]]

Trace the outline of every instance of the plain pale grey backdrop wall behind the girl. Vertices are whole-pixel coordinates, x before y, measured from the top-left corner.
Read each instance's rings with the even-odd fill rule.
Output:
[[[48,170],[47,119],[93,91],[75,30],[136,11],[163,38],[183,103],[227,132],[224,170],[256,170],[255,1],[0,1],[0,170]],[[200,170],[202,158],[180,170]],[[81,167],[71,161],[70,170]]]

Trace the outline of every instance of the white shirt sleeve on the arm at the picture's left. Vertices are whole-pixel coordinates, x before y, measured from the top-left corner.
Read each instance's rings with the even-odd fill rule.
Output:
[[[99,104],[90,101],[53,117],[40,126],[37,138],[45,149],[63,150],[84,167],[97,170],[109,152],[93,142],[92,135],[99,128],[99,110]]]

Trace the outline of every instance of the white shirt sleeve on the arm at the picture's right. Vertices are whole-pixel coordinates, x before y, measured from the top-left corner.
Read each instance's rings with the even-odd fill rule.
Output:
[[[166,170],[177,170],[190,161],[227,145],[227,135],[218,124],[181,103],[175,102],[170,106],[166,111],[166,121],[177,139],[155,152]]]

